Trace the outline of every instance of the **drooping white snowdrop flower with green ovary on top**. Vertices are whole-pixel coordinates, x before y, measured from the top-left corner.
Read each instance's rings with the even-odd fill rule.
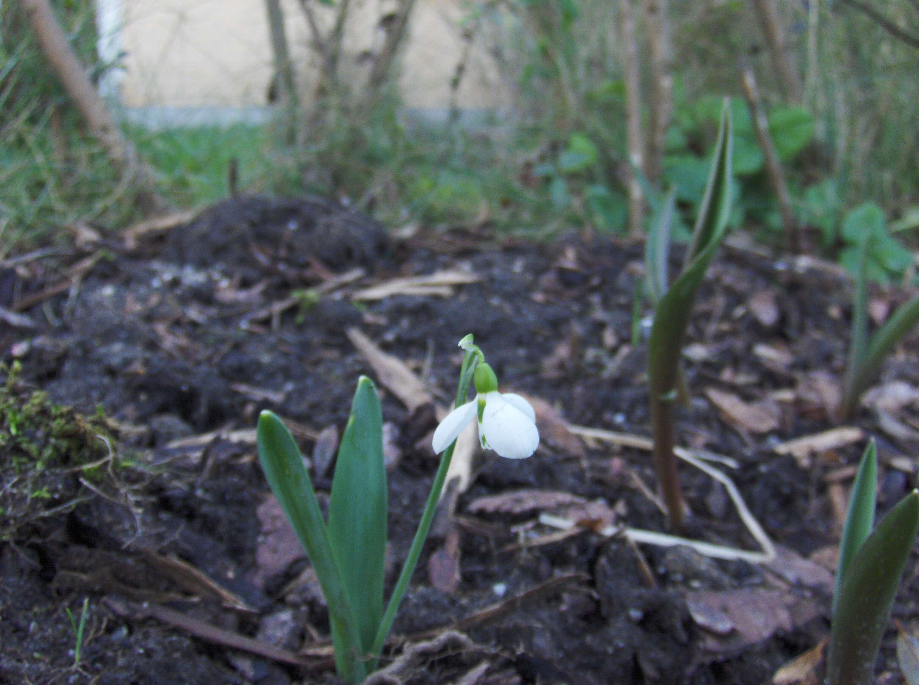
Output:
[[[513,393],[498,392],[498,379],[487,364],[476,366],[472,380],[478,395],[440,422],[431,441],[434,452],[439,455],[446,450],[476,416],[482,449],[493,449],[508,459],[526,459],[536,452],[539,430],[529,402]]]

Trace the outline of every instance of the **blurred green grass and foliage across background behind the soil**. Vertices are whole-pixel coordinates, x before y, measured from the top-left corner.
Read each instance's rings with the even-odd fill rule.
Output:
[[[117,66],[98,63],[90,0],[54,5],[94,78]],[[800,106],[785,104],[749,4],[671,0],[674,109],[663,177],[642,178],[652,209],[674,189],[674,237],[686,238],[686,219],[698,211],[706,182],[720,99],[732,95],[732,227],[781,240],[763,153],[739,96],[743,54],[760,79],[769,130],[810,244],[851,268],[854,236],[869,230],[869,275],[901,277],[919,227],[919,51],[843,6],[777,0],[777,7],[804,83]],[[160,192],[180,207],[223,197],[236,160],[243,189],[347,199],[393,226],[624,232],[629,162],[617,4],[472,0],[465,8],[463,30],[475,32],[494,57],[511,103],[474,124],[409,116],[396,70],[369,111],[340,94],[313,103],[302,113],[308,135],[295,146],[271,126],[130,129],[130,138],[158,172]],[[891,0],[886,9],[919,33],[909,0]],[[0,241],[9,249],[26,231],[39,240],[75,220],[117,228],[135,219],[130,189],[119,186],[42,68],[17,4],[0,5],[0,31],[23,36],[0,41]],[[639,12],[647,81],[646,31]],[[310,110],[323,112],[318,124]]]

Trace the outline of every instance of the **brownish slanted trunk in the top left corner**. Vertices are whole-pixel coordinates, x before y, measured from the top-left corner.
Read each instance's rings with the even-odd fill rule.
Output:
[[[105,148],[108,158],[119,172],[131,174],[140,186],[138,201],[148,209],[162,208],[162,198],[153,191],[153,173],[138,159],[133,145],[124,137],[105,101],[96,92],[67,41],[49,0],[22,0],[22,6],[39,40],[42,54],[80,111],[90,133]]]

